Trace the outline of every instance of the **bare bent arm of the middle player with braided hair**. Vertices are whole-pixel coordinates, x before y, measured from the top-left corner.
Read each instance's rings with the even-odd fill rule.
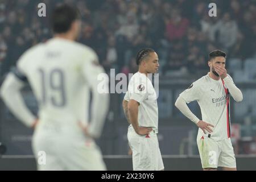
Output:
[[[130,100],[127,105],[128,108],[128,115],[131,125],[135,132],[139,135],[146,135],[152,131],[151,127],[139,127],[138,124],[138,110],[139,110],[139,103],[135,100]]]

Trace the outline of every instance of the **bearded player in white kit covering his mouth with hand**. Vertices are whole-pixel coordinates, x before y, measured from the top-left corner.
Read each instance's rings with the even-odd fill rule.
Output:
[[[177,98],[175,106],[194,122],[199,131],[197,146],[204,170],[236,170],[236,158],[230,140],[230,96],[243,100],[240,89],[225,69],[226,53],[216,50],[209,53],[210,72],[193,82]],[[197,101],[202,120],[197,118],[186,103]]]

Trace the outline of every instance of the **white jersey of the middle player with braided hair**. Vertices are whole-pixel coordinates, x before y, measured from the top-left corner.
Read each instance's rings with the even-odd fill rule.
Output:
[[[150,79],[143,73],[135,73],[129,82],[124,100],[139,102],[139,126],[152,127],[158,133],[158,103],[157,96]]]

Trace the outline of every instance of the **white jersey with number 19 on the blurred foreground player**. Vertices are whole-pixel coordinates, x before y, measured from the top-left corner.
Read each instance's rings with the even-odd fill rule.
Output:
[[[104,72],[96,53],[80,43],[53,38],[28,49],[17,67],[38,100],[39,128],[81,135],[77,123],[87,125],[90,86]]]

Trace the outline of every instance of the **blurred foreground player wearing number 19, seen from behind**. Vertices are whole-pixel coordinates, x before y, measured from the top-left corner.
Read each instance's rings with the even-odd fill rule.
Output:
[[[39,170],[105,170],[94,142],[100,137],[109,104],[109,95],[97,90],[97,76],[104,69],[91,48],[75,42],[81,26],[76,9],[56,7],[51,26],[54,37],[23,53],[15,71],[3,82],[1,96],[18,119],[35,126],[34,155],[46,152],[46,164],[38,164]],[[26,81],[39,103],[38,119],[20,94]],[[105,86],[108,89],[108,82]],[[88,122],[90,90],[92,117]]]

